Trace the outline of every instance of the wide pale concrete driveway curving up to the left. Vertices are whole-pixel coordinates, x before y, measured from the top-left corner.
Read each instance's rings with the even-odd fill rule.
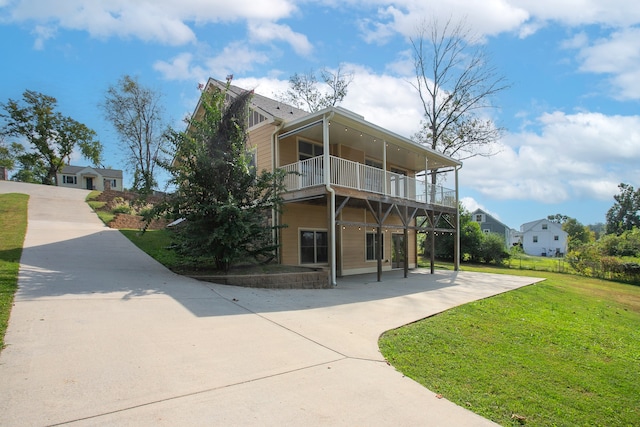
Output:
[[[536,282],[416,271],[330,290],[246,289],[171,273],[105,227],[87,191],[30,194],[0,425],[483,426],[387,365],[379,335]]]

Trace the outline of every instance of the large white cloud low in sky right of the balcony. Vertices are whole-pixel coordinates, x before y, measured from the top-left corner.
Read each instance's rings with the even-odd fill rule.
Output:
[[[465,162],[461,180],[493,199],[608,200],[640,176],[640,116],[553,112],[538,132],[511,133],[490,158]]]

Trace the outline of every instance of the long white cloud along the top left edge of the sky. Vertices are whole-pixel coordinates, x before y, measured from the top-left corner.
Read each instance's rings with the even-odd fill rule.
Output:
[[[296,10],[291,0],[19,0],[5,21],[86,31],[93,37],[135,37],[168,45],[196,41],[196,26],[238,20],[275,21]]]

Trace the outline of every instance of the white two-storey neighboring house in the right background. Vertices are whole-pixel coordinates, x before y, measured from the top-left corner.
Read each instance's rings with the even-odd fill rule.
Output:
[[[567,232],[548,219],[527,222],[520,226],[522,248],[536,256],[564,256],[567,253]]]

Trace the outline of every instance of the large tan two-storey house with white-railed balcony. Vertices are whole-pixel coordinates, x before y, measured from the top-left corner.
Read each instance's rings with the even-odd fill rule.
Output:
[[[209,79],[204,90],[225,86]],[[230,86],[227,96],[242,92]],[[258,170],[290,172],[283,213],[273,219],[287,225],[275,236],[281,264],[326,268],[333,285],[367,272],[381,280],[382,271],[406,275],[417,265],[417,233],[457,234],[457,191],[426,181],[445,169],[457,189],[461,162],[352,111],[307,113],[254,94],[247,145]]]

